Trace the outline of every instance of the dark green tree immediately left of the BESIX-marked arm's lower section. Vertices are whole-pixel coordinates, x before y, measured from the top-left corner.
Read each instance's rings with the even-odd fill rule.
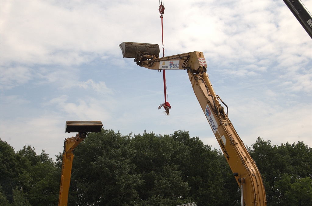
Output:
[[[186,131],[176,131],[172,137],[188,148],[189,164],[183,171],[197,205],[236,205],[238,186],[223,153],[204,145],[198,137],[191,138]]]

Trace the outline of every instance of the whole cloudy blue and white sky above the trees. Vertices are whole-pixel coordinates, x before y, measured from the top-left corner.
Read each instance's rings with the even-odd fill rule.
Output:
[[[302,0],[311,12],[312,1]],[[312,40],[282,0],[164,1],[165,56],[201,51],[245,145],[312,147]],[[159,1],[1,0],[0,138],[55,159],[66,120],[129,133],[189,131],[220,149],[184,70],[163,77],[122,57],[162,44]]]

